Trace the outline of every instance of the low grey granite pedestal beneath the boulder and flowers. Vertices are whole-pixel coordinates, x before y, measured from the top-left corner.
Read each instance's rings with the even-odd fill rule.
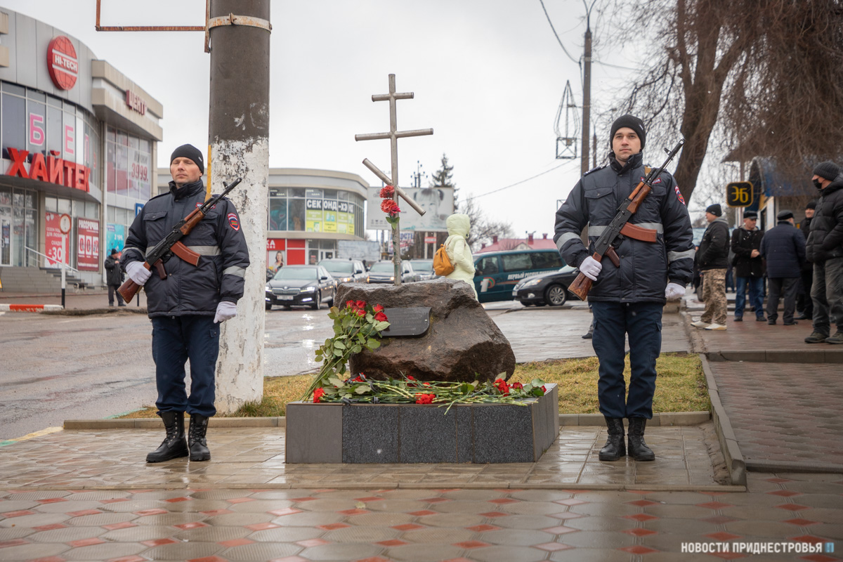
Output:
[[[517,404],[287,404],[287,463],[534,463],[559,434],[559,390]]]

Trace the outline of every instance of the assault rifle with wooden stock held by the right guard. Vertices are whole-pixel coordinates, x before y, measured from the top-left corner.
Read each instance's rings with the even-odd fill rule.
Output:
[[[591,256],[594,260],[603,260],[603,256],[605,255],[609,257],[609,260],[615,267],[620,267],[620,259],[618,258],[618,254],[615,253],[614,246],[612,246],[612,243],[615,242],[615,238],[619,234],[644,242],[656,241],[655,230],[652,228],[636,227],[634,224],[629,224],[628,221],[638,211],[638,207],[641,206],[644,198],[649,195],[650,190],[652,190],[652,182],[662,174],[668,163],[674,159],[674,156],[676,156],[676,153],[679,153],[679,150],[684,144],[685,140],[683,139],[679,141],[673,150],[665,148],[664,152],[668,153],[668,159],[664,161],[660,168],[650,170],[647,177],[642,179],[635,190],[632,190],[630,196],[620,204],[615,218],[612,219],[608,227],[605,227],[603,234],[600,235],[600,238],[594,244],[594,254]],[[584,301],[588,297],[588,292],[591,291],[591,285],[591,279],[580,273],[571,286],[568,286],[568,291]]]

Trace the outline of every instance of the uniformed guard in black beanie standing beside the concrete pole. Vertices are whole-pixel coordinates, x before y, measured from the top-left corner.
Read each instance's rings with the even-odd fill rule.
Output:
[[[207,461],[208,418],[214,408],[214,369],[219,354],[218,323],[237,316],[237,301],[243,296],[244,275],[249,266],[249,249],[234,203],[223,199],[181,243],[200,254],[191,265],[175,255],[164,264],[166,276],[150,276],[144,267],[146,251],[169,234],[175,224],[201,206],[206,199],[202,174],[202,153],[189,144],[170,156],[169,193],[150,199],[132,222],[122,264],[126,275],[147,294],[147,309],[153,324],[153,361],[158,387],[158,415],[167,436],[148,463],[187,457]],[[191,394],[185,393],[185,362],[191,361]],[[191,429],[185,443],[185,417],[191,415]]]

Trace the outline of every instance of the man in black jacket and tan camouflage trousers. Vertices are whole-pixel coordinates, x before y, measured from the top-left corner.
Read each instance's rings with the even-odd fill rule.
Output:
[[[726,269],[729,263],[729,227],[719,205],[706,209],[708,227],[700,240],[697,264],[702,276],[702,300],[706,310],[691,325],[705,329],[726,329]]]

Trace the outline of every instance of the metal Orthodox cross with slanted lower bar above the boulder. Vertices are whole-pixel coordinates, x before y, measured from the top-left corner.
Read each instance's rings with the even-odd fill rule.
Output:
[[[388,138],[392,154],[392,177],[390,178],[377,166],[369,161],[368,158],[363,160],[363,165],[372,170],[373,174],[379,177],[386,185],[392,185],[395,188],[395,193],[392,195],[392,200],[398,202],[399,196],[407,202],[409,206],[416,210],[420,215],[424,215],[425,211],[420,206],[416,205],[407,196],[406,192],[398,186],[398,139],[405,136],[422,136],[432,135],[432,129],[416,129],[415,131],[397,131],[397,119],[395,116],[395,101],[398,99],[413,99],[412,92],[395,93],[395,74],[389,74],[389,94],[373,94],[372,101],[389,101],[389,132],[365,133],[362,135],[355,135],[355,141],[374,141]],[[400,244],[400,226],[396,221],[392,225],[392,263],[395,265],[395,285],[401,284],[401,244]]]

